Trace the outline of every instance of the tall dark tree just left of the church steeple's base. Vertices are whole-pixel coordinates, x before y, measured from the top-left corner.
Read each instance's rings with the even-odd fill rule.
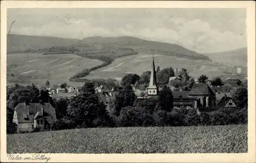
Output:
[[[114,101],[115,113],[118,116],[121,108],[125,106],[133,106],[136,95],[131,85],[126,84],[122,89],[117,91],[116,99]]]

